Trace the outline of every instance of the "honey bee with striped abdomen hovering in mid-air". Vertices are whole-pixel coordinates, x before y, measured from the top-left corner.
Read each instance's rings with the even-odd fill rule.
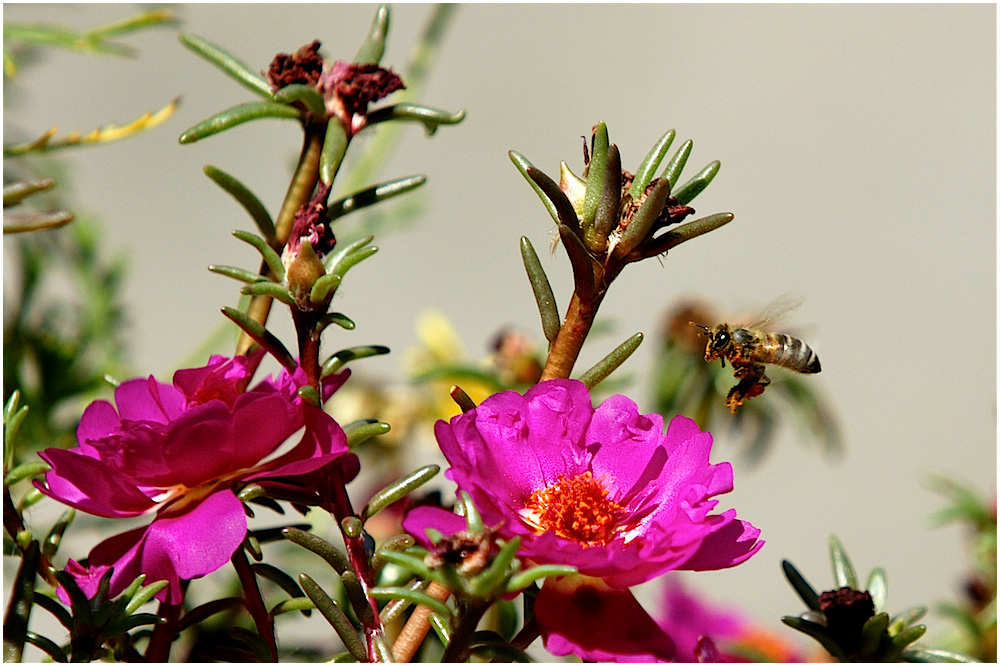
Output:
[[[771,383],[765,374],[765,363],[803,374],[820,371],[819,357],[812,347],[787,333],[768,333],[763,330],[800,303],[801,299],[797,297],[787,294],[781,296],[768,306],[757,321],[747,326],[723,323],[709,328],[690,322],[692,326],[702,329],[702,335],[708,337],[705,360],[712,362],[717,358],[721,359],[722,366],[725,367],[726,359],[729,359],[733,366],[733,376],[740,380],[726,396],[726,407],[734,414],[744,400],[760,395],[764,392],[764,387]]]

